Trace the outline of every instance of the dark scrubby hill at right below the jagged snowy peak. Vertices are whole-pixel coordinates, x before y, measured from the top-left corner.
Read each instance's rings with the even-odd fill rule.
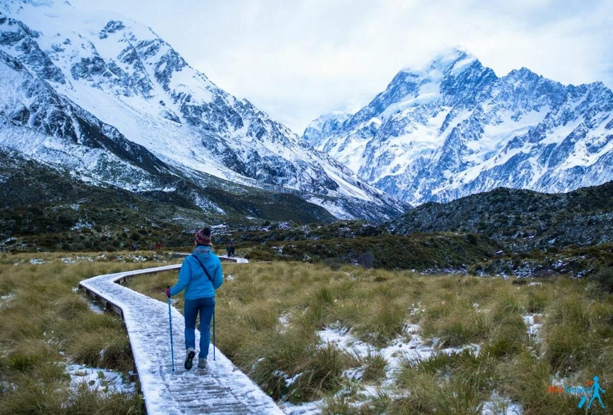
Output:
[[[395,219],[390,229],[403,235],[474,232],[519,250],[613,243],[613,181],[568,193],[500,188],[446,204],[429,202]]]

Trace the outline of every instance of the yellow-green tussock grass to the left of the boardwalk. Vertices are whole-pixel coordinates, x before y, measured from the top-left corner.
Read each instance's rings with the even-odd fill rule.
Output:
[[[73,290],[89,276],[155,263],[124,264],[108,257],[61,262],[68,256],[76,254],[0,254],[0,295],[10,295],[0,300],[0,414],[141,414],[140,395],[70,389],[65,367],[69,358],[121,371],[132,368],[120,319],[94,313],[85,296]],[[31,259],[44,263],[30,264]]]

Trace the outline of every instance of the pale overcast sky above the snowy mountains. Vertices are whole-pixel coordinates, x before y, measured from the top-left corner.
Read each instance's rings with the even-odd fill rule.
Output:
[[[402,67],[459,46],[500,76],[522,66],[613,87],[613,0],[71,0],[141,21],[191,66],[302,135],[355,112]]]

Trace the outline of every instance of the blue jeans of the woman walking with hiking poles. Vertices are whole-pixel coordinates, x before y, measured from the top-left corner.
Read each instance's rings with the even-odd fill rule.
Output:
[[[185,300],[185,348],[196,349],[196,316],[200,313],[200,352],[198,357],[208,356],[208,344],[211,342],[211,317],[215,311],[215,297]]]

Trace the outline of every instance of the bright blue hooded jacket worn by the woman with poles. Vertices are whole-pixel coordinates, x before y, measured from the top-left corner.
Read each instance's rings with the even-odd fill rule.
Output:
[[[224,280],[219,257],[208,246],[196,246],[192,254],[197,256],[202,265],[207,268],[209,275],[213,278],[213,283],[208,279],[196,258],[190,255],[183,261],[179,271],[179,280],[170,289],[170,295],[179,294],[185,289],[186,300],[215,297],[215,290],[221,287]]]

